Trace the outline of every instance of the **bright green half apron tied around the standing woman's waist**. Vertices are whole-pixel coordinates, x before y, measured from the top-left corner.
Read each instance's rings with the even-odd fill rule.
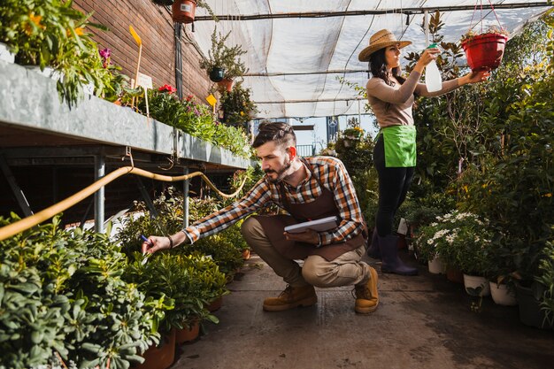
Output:
[[[379,132],[381,134],[385,149],[385,167],[406,168],[416,165],[415,126],[384,127]]]

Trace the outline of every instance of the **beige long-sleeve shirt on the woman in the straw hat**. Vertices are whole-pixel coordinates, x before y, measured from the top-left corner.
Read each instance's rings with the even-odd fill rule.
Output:
[[[419,83],[419,72],[412,72],[404,84],[389,86],[381,78],[367,81],[367,100],[373,109],[379,127],[413,126],[413,93],[434,97],[446,94],[459,87],[458,79],[442,82],[439,91],[428,92],[424,83]]]

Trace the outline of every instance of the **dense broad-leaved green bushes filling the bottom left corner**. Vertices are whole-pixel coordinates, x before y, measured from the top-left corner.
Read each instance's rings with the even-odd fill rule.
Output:
[[[55,350],[78,367],[125,369],[158,341],[160,301],[121,280],[127,261],[106,235],[55,218],[0,242],[0,254],[0,366],[47,364]]]

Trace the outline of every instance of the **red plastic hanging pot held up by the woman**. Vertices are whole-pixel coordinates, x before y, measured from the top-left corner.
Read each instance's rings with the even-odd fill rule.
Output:
[[[466,52],[467,65],[472,71],[496,69],[504,56],[508,37],[500,34],[476,35],[462,42]]]

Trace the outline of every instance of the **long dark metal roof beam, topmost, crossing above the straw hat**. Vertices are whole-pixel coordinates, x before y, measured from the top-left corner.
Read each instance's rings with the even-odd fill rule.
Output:
[[[479,5],[479,9],[522,9],[522,8],[536,8],[536,7],[549,7],[547,1],[539,1],[534,3],[513,3],[513,4],[482,4]],[[435,6],[435,7],[419,7],[419,8],[395,8],[395,9],[374,9],[367,11],[344,11],[344,12],[289,12],[289,13],[275,13],[275,14],[225,14],[217,15],[219,21],[241,21],[241,20],[258,20],[258,19],[283,19],[283,18],[331,18],[331,17],[352,17],[352,16],[364,16],[364,15],[381,15],[381,14],[423,14],[424,12],[460,12],[460,11],[473,11],[475,5],[458,5],[458,6]],[[196,16],[195,21],[213,20],[211,15],[208,16]]]

